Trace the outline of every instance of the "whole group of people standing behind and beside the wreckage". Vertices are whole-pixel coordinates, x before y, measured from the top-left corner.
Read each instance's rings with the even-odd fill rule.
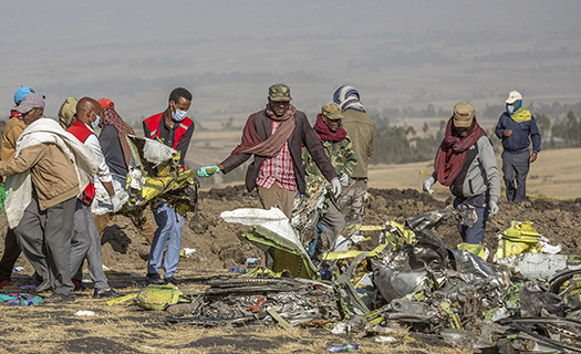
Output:
[[[145,137],[180,153],[181,168],[195,128],[187,116],[191,98],[188,90],[175,88],[165,111],[143,122]],[[344,85],[334,92],[333,102],[321,107],[314,126],[291,101],[288,85],[271,85],[266,107],[248,117],[241,142],[230,156],[215,166],[201,167],[197,174],[228,174],[253,156],[246,174],[247,189],[257,190],[263,208],[276,206],[289,218],[295,196],[307,191],[305,176],[324,177],[329,197],[320,223],[332,247],[345,226],[363,223],[375,124],[353,86]],[[111,209],[118,211],[123,207],[113,180],[126,180],[132,163],[126,136],[135,132],[108,98],[69,97],[61,105],[59,121],[44,116],[44,96],[31,87],[20,87],[14,104],[0,150],[9,223],[0,261],[0,288],[12,287],[10,274],[22,250],[35,269],[37,291],[52,290],[55,301],[75,299],[74,291],[83,287],[81,269],[85,259],[94,296],[118,296],[108,285],[101,261],[101,235],[112,216],[94,216],[89,206],[95,198],[94,184],[98,183],[110,196]],[[518,92],[511,92],[506,104],[496,134],[502,139],[507,198],[519,201],[526,197],[529,164],[540,152],[540,135]],[[466,244],[480,244],[488,215],[499,210],[500,174],[492,145],[468,102],[454,107],[424,190],[432,191],[436,181],[450,187],[456,207],[475,209],[478,221],[471,227],[460,226],[459,231]],[[145,280],[178,285],[175,272],[184,217],[167,202],[156,205],[153,212],[156,225],[148,220],[139,226],[151,243]]]

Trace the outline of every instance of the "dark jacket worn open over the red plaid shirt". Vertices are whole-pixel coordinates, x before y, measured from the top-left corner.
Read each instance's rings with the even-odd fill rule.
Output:
[[[267,116],[264,110],[252,114],[249,117],[249,119],[252,119],[252,124],[255,125],[255,128],[262,140],[266,140],[272,134],[272,119],[270,119]],[[303,144],[313,157],[317,166],[319,166],[319,169],[321,170],[323,176],[328,180],[331,180],[336,177],[335,169],[331,165],[329,157],[326,157],[323,150],[323,146],[321,145],[321,142],[314,134],[314,131],[309,124],[309,121],[307,119],[307,115],[304,115],[304,113],[297,111],[297,113],[294,114],[294,131],[292,132],[291,136],[287,142],[289,144],[289,150],[292,157],[292,169],[294,170],[297,188],[301,194],[304,194],[307,190],[307,181],[304,179],[304,166],[302,165],[301,155],[301,147]],[[251,154],[241,153],[230,155],[220,164],[224,167],[222,173],[227,174],[231,171],[232,169],[248,160]],[[255,160],[252,162],[252,164],[250,164],[250,166],[248,166],[248,170],[246,173],[246,188],[248,189],[248,191],[251,191],[256,188],[257,178],[260,174],[260,168],[262,167],[262,163],[264,163],[267,157],[255,155]]]

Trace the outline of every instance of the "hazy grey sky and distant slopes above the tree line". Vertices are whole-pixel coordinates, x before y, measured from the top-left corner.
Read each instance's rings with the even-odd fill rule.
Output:
[[[54,3],[59,3],[55,6]],[[518,88],[581,98],[581,1],[3,1],[0,116],[20,85],[107,96],[127,119],[194,93],[199,121],[245,118],[270,84],[314,113],[341,84],[369,107],[477,110]]]

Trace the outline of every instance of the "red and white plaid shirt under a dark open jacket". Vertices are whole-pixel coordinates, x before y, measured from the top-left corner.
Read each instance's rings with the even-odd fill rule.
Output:
[[[279,124],[279,122],[272,121],[272,133],[277,131]],[[292,157],[290,156],[288,142],[284,143],[277,156],[264,160],[257,178],[257,186],[270,188],[274,181],[281,188],[297,190],[297,181],[294,180],[294,169],[292,168]]]

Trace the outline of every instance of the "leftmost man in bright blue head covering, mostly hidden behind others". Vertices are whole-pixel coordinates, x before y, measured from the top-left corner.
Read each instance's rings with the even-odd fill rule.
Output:
[[[14,104],[18,106],[22,98],[28,94],[34,93],[34,88],[22,86],[14,93]],[[2,135],[2,148],[0,149],[0,160],[9,162],[14,158],[17,149],[17,140],[27,128],[27,124],[22,121],[22,114],[17,110],[10,111],[10,118],[4,127]],[[20,257],[20,247],[17,242],[17,232],[14,229],[8,228],[4,238],[4,251],[2,260],[0,260],[0,289],[15,289],[11,282],[12,269],[14,268],[18,258]]]

